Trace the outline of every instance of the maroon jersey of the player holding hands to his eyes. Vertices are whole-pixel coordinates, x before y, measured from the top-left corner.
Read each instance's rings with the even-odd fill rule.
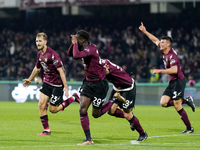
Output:
[[[87,45],[83,51],[79,51],[78,44],[71,45],[68,54],[73,47],[73,57],[82,58],[87,81],[99,81],[105,79],[106,69],[100,64],[100,57],[95,44]]]

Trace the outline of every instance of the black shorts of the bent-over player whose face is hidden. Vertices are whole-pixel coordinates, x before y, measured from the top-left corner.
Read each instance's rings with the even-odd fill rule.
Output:
[[[113,96],[115,94],[115,90],[113,89],[109,100],[113,99]],[[126,104],[119,102],[118,105],[120,108],[123,108],[124,110],[130,110],[134,108],[135,106],[135,97],[136,97],[136,85],[134,83],[134,88],[130,91],[120,91],[119,92],[124,98],[126,98]]]

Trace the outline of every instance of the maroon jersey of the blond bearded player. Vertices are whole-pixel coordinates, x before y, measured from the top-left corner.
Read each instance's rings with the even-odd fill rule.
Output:
[[[63,85],[60,74],[57,71],[57,68],[62,67],[63,64],[57,52],[49,47],[47,47],[47,50],[44,54],[39,51],[35,66],[37,68],[41,68],[43,82],[56,86]]]

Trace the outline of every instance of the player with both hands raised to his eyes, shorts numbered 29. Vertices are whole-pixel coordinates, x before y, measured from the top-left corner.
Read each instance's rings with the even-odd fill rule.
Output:
[[[88,108],[92,103],[92,116],[98,118],[105,114],[112,106],[112,102],[104,103],[108,91],[106,80],[106,69],[100,64],[98,48],[95,44],[89,43],[89,33],[79,30],[76,35],[71,35],[72,44],[68,49],[68,55],[73,58],[82,58],[86,78],[83,80],[80,89],[80,121],[86,140],[78,145],[94,144],[89,127]]]

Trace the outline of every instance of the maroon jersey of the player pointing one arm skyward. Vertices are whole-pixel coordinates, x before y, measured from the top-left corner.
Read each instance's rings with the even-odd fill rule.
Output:
[[[166,69],[171,68],[172,66],[178,67],[178,71],[177,71],[176,74],[169,74],[168,75],[169,81],[183,79],[185,77],[183,72],[181,71],[180,61],[179,61],[179,58],[177,56],[177,53],[173,48],[170,49],[168,54],[163,55],[163,62],[164,62]]]

